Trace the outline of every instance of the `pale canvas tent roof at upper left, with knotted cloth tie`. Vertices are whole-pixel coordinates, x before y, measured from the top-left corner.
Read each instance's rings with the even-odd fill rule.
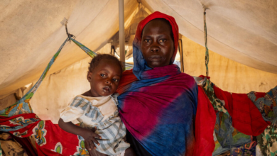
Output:
[[[125,20],[139,5],[125,0]],[[65,26],[87,48],[98,51],[119,30],[118,1],[1,1],[0,95],[9,94],[40,77],[67,38]],[[87,57],[66,43],[49,74]]]

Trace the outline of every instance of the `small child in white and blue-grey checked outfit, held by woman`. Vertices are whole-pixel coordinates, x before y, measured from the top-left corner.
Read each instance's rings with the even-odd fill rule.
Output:
[[[60,128],[85,139],[90,154],[94,148],[106,155],[133,155],[129,154],[132,153],[129,143],[123,140],[126,127],[119,117],[116,97],[112,96],[121,73],[121,62],[116,57],[97,55],[90,62],[87,73],[91,89],[76,96],[60,113]],[[71,122],[76,119],[80,126]]]

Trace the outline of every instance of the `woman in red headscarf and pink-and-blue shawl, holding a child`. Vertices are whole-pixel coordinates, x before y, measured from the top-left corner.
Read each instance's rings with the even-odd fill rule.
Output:
[[[136,30],[134,69],[124,72],[117,91],[127,142],[137,155],[193,153],[198,88],[193,77],[173,65],[178,35],[175,19],[160,12],[146,17]],[[215,118],[214,112],[209,116]],[[202,143],[210,145],[204,152],[214,148],[213,126],[205,130],[210,136]]]

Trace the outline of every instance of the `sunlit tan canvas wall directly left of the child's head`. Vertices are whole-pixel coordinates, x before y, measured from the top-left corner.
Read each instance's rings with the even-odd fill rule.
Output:
[[[60,111],[77,95],[90,89],[87,81],[87,57],[65,69],[45,77],[30,101],[33,111],[43,120],[58,123]]]

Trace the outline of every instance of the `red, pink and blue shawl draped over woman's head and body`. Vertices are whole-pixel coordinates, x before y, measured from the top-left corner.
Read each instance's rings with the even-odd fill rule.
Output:
[[[140,50],[141,31],[146,23],[155,18],[169,21],[175,45],[171,63],[175,58],[178,48],[175,19],[160,12],[152,13],[139,23],[136,30],[133,43],[134,69],[124,72],[119,84],[119,114],[129,132],[151,155],[192,155],[195,146],[197,84],[193,77],[181,73],[177,65],[153,69],[146,65]],[[210,125],[213,130],[214,123]],[[210,135],[213,142],[212,133]],[[213,150],[214,144],[207,146]]]

